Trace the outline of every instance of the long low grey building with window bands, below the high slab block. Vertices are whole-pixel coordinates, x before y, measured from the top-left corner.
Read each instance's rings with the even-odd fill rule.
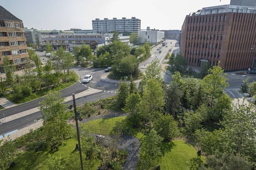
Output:
[[[113,34],[49,34],[49,35],[41,35],[42,46],[45,46],[46,43],[51,43],[55,48],[63,45],[82,45],[83,43],[89,45],[90,43],[97,44],[108,44],[112,42]],[[122,42],[129,44],[129,36],[119,36],[119,39]],[[71,49],[72,51],[72,49]]]

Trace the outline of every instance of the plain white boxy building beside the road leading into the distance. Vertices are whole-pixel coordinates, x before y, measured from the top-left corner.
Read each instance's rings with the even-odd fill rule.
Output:
[[[138,31],[140,42],[158,43],[165,39],[165,32],[157,30]]]

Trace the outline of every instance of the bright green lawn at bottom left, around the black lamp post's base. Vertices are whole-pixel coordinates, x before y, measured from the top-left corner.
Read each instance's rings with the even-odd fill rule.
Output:
[[[16,165],[10,170],[28,170],[28,169],[38,169],[45,170],[47,169],[48,155],[61,156],[61,158],[67,158],[70,155],[77,157],[77,165],[80,165],[79,152],[75,151],[77,141],[75,139],[68,139],[64,142],[63,146],[59,147],[59,150],[56,152],[51,152],[50,148],[42,149],[38,152],[26,151],[22,154],[19,154],[15,159]],[[84,155],[83,155],[84,157]],[[100,165],[97,160],[90,162],[88,167],[89,170],[95,170]],[[80,169],[80,166],[79,166]]]

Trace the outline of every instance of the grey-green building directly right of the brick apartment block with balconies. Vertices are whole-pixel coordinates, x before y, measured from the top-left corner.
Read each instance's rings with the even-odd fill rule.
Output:
[[[41,40],[41,32],[38,31],[37,29],[31,28],[27,29],[25,28],[25,36],[28,43],[33,43],[35,45],[42,45],[42,40]]]

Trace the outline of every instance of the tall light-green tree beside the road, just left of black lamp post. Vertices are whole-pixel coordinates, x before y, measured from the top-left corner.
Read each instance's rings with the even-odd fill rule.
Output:
[[[44,118],[43,131],[46,142],[52,150],[56,151],[69,132],[64,98],[59,92],[49,94],[44,97],[43,101],[39,102],[39,109]]]

